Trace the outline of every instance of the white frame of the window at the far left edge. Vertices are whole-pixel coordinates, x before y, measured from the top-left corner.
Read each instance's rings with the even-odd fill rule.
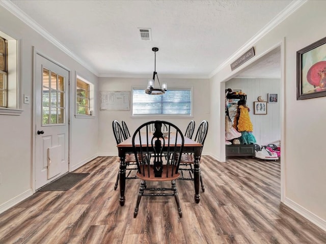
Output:
[[[1,115],[20,115],[22,110],[21,94],[21,40],[0,31],[7,40],[7,107],[0,107]]]

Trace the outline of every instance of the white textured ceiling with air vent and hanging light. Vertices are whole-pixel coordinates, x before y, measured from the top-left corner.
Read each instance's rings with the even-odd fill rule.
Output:
[[[210,77],[294,4],[286,0],[11,3],[7,2],[7,8],[23,11],[21,19],[30,25],[29,18],[33,19],[35,29],[59,43],[97,76],[151,77],[151,49],[158,47],[159,77],[175,78]],[[152,40],[142,41],[138,28],[151,28]],[[273,72],[271,76],[275,75],[275,67],[280,74],[279,55],[267,58],[266,77]],[[247,72],[249,77],[255,75],[254,68]]]

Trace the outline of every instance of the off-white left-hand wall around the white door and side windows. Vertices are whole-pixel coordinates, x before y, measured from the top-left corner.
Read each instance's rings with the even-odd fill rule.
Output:
[[[45,56],[70,69],[71,110],[74,111],[75,72],[97,86],[97,77],[49,43],[28,25],[0,6],[0,30],[22,44],[21,94],[30,96],[21,115],[0,115],[0,212],[33,194],[33,46]],[[22,98],[21,98],[22,99]],[[74,114],[74,112],[72,112]],[[70,169],[96,156],[98,117],[70,121]]]

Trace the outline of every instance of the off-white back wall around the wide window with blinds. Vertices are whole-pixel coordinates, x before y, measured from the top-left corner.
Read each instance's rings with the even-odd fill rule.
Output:
[[[144,87],[147,86],[146,78],[100,78],[99,79],[99,92],[100,91],[115,91],[115,90],[130,90],[131,87]],[[208,136],[210,136],[210,104],[209,104],[209,80],[208,79],[164,79],[160,77],[160,82],[167,82],[169,87],[193,87],[193,117],[160,117],[162,120],[168,120],[176,124],[181,131],[185,131],[190,120],[194,119],[196,122],[197,130],[202,120],[208,120],[209,129]],[[131,95],[132,96],[132,95]],[[164,95],[163,95],[164,96]],[[131,98],[132,99],[132,98]],[[130,100],[131,100],[130,99]],[[149,105],[150,106],[150,105]],[[131,107],[131,106],[130,106]],[[130,134],[143,123],[149,120],[155,120],[157,117],[132,117],[132,111],[99,111],[99,155],[118,155],[116,141],[112,131],[112,121],[117,119],[120,123],[125,120],[129,128]],[[208,140],[208,139],[207,139]],[[203,149],[203,154],[207,154],[206,143]]]

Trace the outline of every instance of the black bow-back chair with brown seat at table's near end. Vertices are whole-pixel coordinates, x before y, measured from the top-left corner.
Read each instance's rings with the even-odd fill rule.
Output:
[[[154,132],[149,131],[154,126]],[[164,135],[162,128],[167,128]],[[143,196],[174,196],[180,218],[182,211],[176,187],[176,179],[180,176],[179,164],[184,145],[184,137],[180,129],[167,121],[150,121],[140,126],[132,136],[134,155],[140,154],[146,160],[137,161],[137,177],[141,179],[137,203],[133,218],[137,217],[139,204]],[[165,155],[179,157],[165,157]],[[155,184],[154,181],[158,181]],[[171,181],[171,187],[162,187],[165,181]],[[147,184],[149,186],[147,186]]]

